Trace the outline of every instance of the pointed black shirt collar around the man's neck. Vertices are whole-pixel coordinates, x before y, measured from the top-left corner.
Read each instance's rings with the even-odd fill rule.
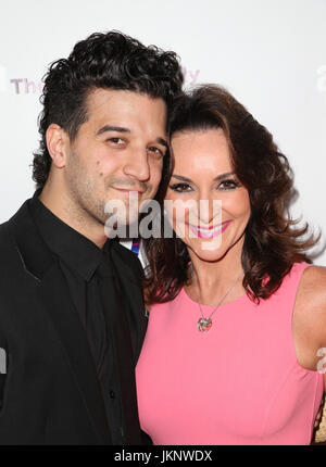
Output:
[[[109,250],[109,241],[101,250],[88,238],[57,217],[39,200],[37,190],[30,200],[30,210],[40,235],[50,251],[57,254],[74,273],[89,281],[98,268],[103,251]]]

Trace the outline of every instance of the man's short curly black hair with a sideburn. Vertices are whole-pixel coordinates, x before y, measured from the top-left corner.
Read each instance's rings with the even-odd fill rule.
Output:
[[[47,181],[51,156],[47,149],[49,125],[60,125],[71,141],[87,122],[87,97],[96,88],[128,90],[161,98],[170,112],[181,91],[184,77],[175,52],[146,47],[120,31],[95,33],[77,42],[67,59],[51,63],[45,75],[39,116],[39,150],[34,153],[33,179]],[[141,110],[140,110],[141,111]]]

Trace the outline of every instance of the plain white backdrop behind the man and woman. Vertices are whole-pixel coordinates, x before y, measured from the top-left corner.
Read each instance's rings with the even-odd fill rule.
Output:
[[[275,136],[302,215],[326,231],[326,0],[1,0],[0,223],[34,192],[39,83],[77,40],[118,29],[175,50],[186,84],[227,87]],[[326,252],[316,264],[326,265]]]

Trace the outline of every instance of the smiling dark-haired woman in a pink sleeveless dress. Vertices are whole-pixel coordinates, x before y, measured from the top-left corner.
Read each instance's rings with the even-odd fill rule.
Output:
[[[158,200],[174,238],[145,242],[141,427],[154,444],[309,444],[326,381],[326,268],[287,216],[288,161],[217,86],[179,99],[171,144]]]

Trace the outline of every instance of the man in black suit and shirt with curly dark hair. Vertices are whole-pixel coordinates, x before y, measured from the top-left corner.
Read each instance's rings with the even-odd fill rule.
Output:
[[[37,191],[0,226],[1,444],[141,444],[142,268],[108,240],[105,205],[133,222],[129,192],[154,197],[181,85],[173,52],[116,31],[50,66]]]

